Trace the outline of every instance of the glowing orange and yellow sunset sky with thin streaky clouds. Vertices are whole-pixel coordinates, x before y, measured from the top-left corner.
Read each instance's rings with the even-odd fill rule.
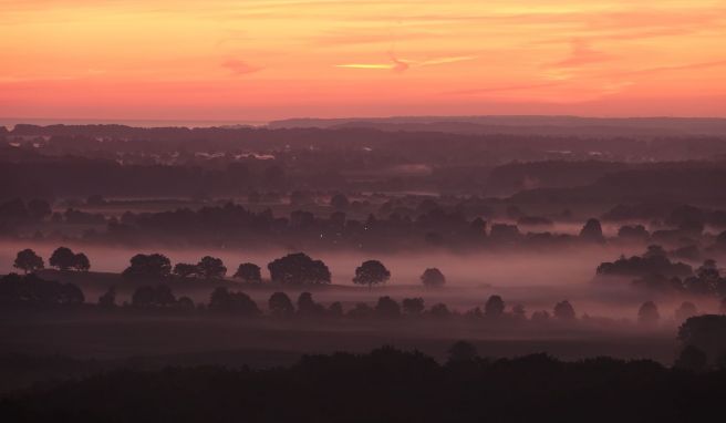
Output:
[[[726,116],[726,0],[0,0],[0,117]]]

